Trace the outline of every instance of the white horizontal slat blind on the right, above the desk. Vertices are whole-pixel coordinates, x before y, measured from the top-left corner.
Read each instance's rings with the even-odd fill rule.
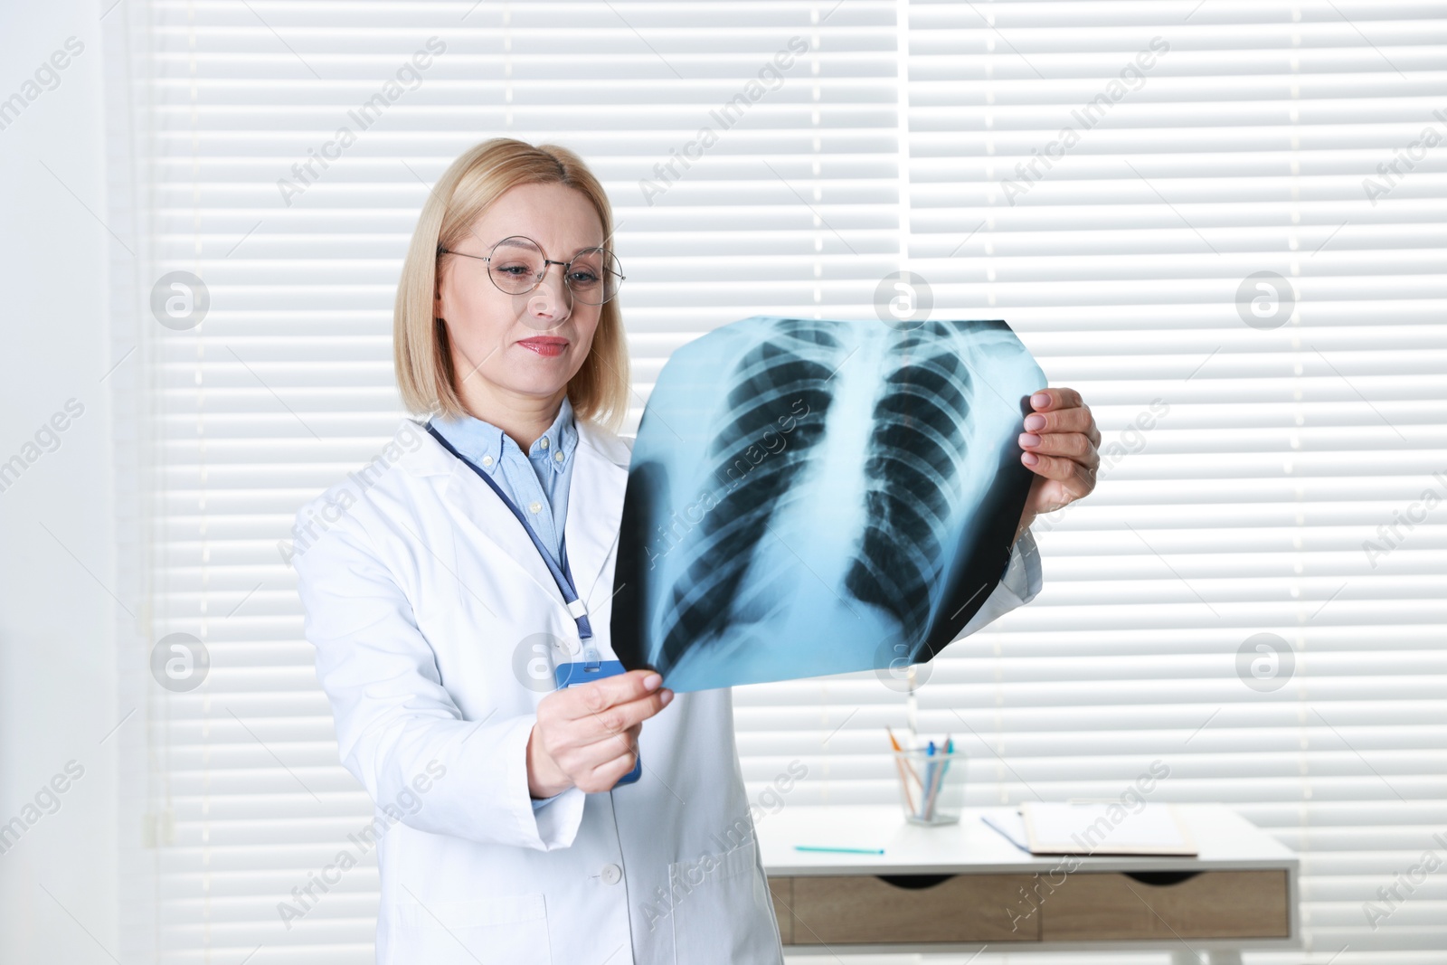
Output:
[[[1153,800],[1301,852],[1318,962],[1447,951],[1447,877],[1378,894],[1447,862],[1447,508],[1420,505],[1447,502],[1447,155],[1363,188],[1447,136],[1441,13],[910,4],[912,268],[1009,318],[1107,443],[1035,527],[1040,598],[935,661],[920,723],[964,736],[978,803],[1119,799],[1162,761]],[[1239,305],[1256,272],[1295,292],[1275,327]],[[1292,651],[1273,689],[1240,676],[1256,634]]]

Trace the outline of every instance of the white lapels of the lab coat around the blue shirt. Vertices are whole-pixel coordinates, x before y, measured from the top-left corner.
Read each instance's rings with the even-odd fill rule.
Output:
[[[408,422],[414,431],[425,424]],[[618,541],[631,454],[628,446],[606,428],[582,418],[576,420],[576,427],[577,449],[573,451],[563,538],[577,595],[592,612],[601,609],[612,592],[612,587],[599,587],[598,577]],[[407,425],[402,428],[407,430]],[[443,493],[457,511],[459,525],[495,544],[508,560],[527,571],[548,599],[564,606],[553,574],[517,516],[473,470],[443,449],[425,428],[420,431],[423,444],[407,453],[401,466],[414,476],[447,476]],[[572,619],[566,625],[572,625]]]

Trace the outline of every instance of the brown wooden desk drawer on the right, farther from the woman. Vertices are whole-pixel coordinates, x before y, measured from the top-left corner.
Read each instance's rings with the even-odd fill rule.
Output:
[[[1174,878],[1077,871],[1051,880],[1040,888],[1040,940],[1289,936],[1285,871]]]

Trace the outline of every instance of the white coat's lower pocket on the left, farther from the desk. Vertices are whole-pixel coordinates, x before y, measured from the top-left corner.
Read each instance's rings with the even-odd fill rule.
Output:
[[[472,901],[402,901],[388,965],[551,965],[541,891]],[[404,961],[405,959],[405,961]]]

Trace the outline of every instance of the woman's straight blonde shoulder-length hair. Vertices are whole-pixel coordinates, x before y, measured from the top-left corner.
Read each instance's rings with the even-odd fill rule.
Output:
[[[614,214],[603,187],[583,159],[557,145],[493,137],[464,150],[443,172],[417,218],[402,262],[392,313],[392,360],[402,404],[410,412],[466,414],[453,383],[447,326],[434,315],[437,246],[451,249],[473,221],[519,184],[561,184],[586,197],[603,224],[603,245],[614,234]],[[618,298],[599,310],[593,344],[567,383],[573,414],[614,431],[628,412],[628,341]]]

